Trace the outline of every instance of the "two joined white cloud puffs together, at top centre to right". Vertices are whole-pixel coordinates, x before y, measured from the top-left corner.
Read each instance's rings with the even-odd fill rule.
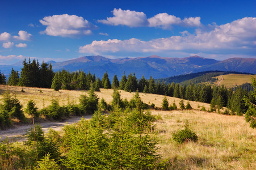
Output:
[[[161,13],[147,18],[144,12],[136,12],[130,10],[118,10],[115,8],[113,17],[107,17],[107,20],[98,20],[98,22],[110,25],[127,25],[128,27],[161,27],[170,29],[173,25],[181,25],[182,27],[199,27],[201,25],[200,17],[178,18],[174,15]]]

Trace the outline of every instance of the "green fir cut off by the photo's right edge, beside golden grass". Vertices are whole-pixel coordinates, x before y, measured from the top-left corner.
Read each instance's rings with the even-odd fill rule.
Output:
[[[253,97],[256,99],[256,78],[251,78],[251,84],[254,86]],[[251,128],[256,128],[256,104],[253,103],[248,97],[244,97],[245,104],[249,107],[245,113],[245,121],[250,124]]]

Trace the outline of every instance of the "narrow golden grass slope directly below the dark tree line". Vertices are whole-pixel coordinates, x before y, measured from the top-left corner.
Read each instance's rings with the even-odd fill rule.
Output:
[[[47,107],[51,104],[52,99],[58,99],[60,105],[66,105],[68,102],[79,102],[79,97],[82,94],[87,95],[87,91],[69,91],[69,90],[60,90],[60,91],[54,91],[52,89],[48,88],[33,88],[33,87],[17,87],[17,86],[4,86],[0,85],[0,94],[2,94],[5,90],[11,91],[12,94],[15,94],[16,97],[19,99],[20,103],[23,105],[23,107],[26,107],[28,100],[34,100],[36,103],[36,107],[39,109],[42,109],[44,107]],[[23,91],[25,92],[22,92]],[[40,92],[41,90],[41,92]],[[104,89],[100,88],[100,92],[95,92],[95,94],[100,98],[106,100],[107,103],[111,103],[112,101],[112,89]],[[128,101],[132,99],[132,96],[135,93],[129,93],[125,92],[123,90],[120,90],[121,99],[127,99]],[[146,104],[152,104],[154,103],[156,107],[161,108],[162,107],[162,95],[155,95],[155,94],[144,94],[140,93],[140,97],[142,101]],[[2,98],[2,95],[0,95],[0,99]],[[169,101],[169,104],[173,103],[175,101],[175,104],[179,107],[179,101],[181,99],[175,98],[175,97],[168,97],[167,99]],[[186,105],[187,100],[184,100],[184,104]],[[209,109],[210,106],[207,103],[200,103],[196,101],[190,101],[190,104],[192,108],[199,109],[198,106],[202,107],[204,106],[205,109]]]

